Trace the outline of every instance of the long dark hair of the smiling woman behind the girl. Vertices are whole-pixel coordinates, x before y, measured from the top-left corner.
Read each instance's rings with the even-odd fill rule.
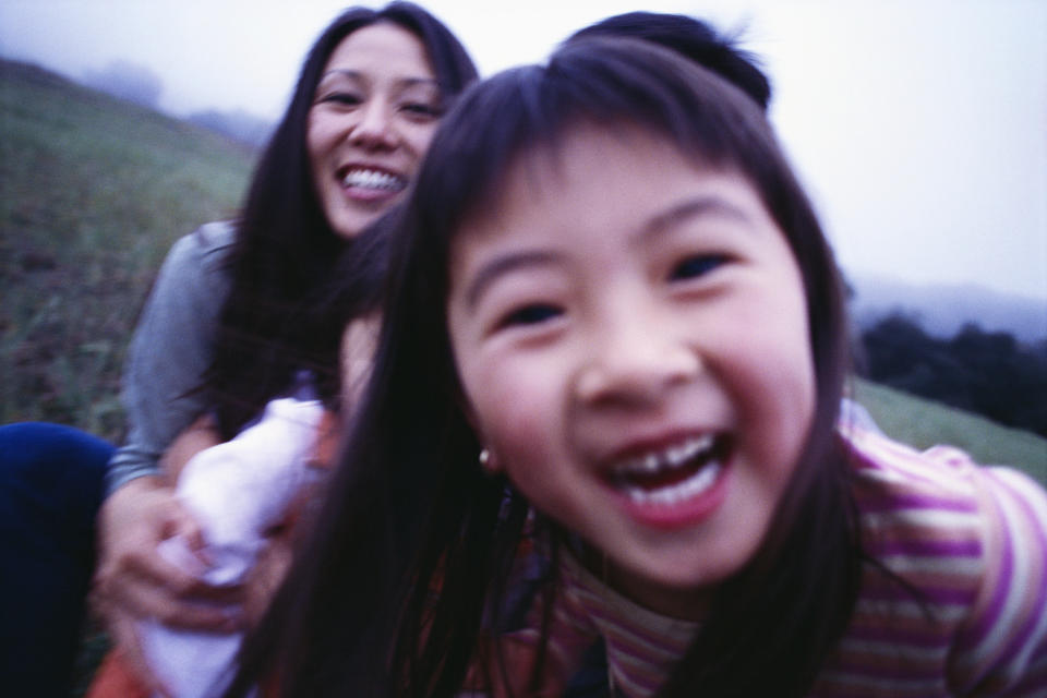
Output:
[[[301,369],[311,369],[321,384],[337,384],[338,347],[347,318],[311,309],[329,298],[325,284],[337,282],[336,260],[352,254],[358,241],[339,237],[324,215],[312,181],[305,130],[332,52],[357,29],[380,22],[400,26],[421,40],[446,103],[477,77],[472,60],[450,31],[410,2],[393,2],[381,10],[352,8],[316,39],[290,105],[257,164],[228,257],[231,288],[205,376],[225,438],[287,390]]]

